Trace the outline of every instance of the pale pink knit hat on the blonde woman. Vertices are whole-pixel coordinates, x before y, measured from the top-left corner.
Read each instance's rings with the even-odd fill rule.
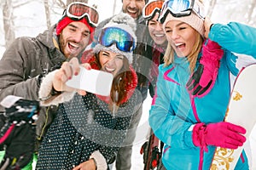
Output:
[[[204,5],[199,0],[195,0],[194,6],[199,8],[199,10],[204,13]],[[198,31],[201,34],[201,37],[204,37],[204,32],[205,32],[204,20],[198,14],[195,14],[194,11],[192,11],[192,13],[189,16],[182,16],[182,17],[174,17],[172,16],[171,13],[167,14],[166,20],[163,23],[164,29],[166,27],[166,23],[170,20],[180,20],[182,22],[185,22],[189,26],[193,27],[196,31]]]

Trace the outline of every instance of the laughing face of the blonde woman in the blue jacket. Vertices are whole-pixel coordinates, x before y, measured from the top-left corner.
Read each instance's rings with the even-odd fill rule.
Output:
[[[196,31],[179,20],[170,20],[165,26],[166,38],[171,43],[178,57],[188,56],[196,41]]]

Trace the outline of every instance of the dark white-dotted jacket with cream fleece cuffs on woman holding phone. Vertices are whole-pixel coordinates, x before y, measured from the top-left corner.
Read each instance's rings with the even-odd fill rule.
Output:
[[[54,75],[55,71],[44,78],[41,97],[49,96]],[[135,71],[132,80],[125,88],[127,94],[137,86]],[[91,157],[96,160],[97,169],[107,169],[125,139],[132,114],[137,111],[137,93],[127,95],[114,115],[102,99],[96,94],[63,92],[50,103],[42,101],[42,105],[61,104],[39,149],[37,169],[72,169]]]

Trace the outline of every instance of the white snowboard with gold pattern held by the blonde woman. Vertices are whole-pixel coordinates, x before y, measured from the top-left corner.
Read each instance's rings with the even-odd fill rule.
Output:
[[[238,76],[230,95],[230,103],[224,118],[246,128],[245,137],[249,139],[256,123],[256,64],[243,68]],[[211,170],[235,169],[236,162],[241,156],[244,144],[236,150],[217,147],[212,160]]]

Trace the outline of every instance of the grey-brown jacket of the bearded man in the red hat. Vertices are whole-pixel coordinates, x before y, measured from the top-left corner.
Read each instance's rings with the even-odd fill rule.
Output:
[[[66,59],[54,35],[55,26],[38,37],[19,37],[5,51],[0,61],[0,101],[10,94],[38,100],[38,75],[47,73]],[[0,111],[3,111],[1,106]],[[56,106],[42,107],[37,121],[39,140],[55,111]]]

